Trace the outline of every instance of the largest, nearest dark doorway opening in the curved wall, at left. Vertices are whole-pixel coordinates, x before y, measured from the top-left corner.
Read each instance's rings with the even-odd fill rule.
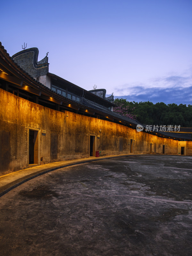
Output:
[[[38,164],[38,131],[29,129],[29,164]]]

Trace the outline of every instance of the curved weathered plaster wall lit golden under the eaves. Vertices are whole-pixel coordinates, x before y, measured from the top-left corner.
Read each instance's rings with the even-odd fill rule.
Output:
[[[2,89],[0,108],[0,135],[3,138],[6,133],[7,138],[1,138],[6,152],[1,175],[28,167],[29,129],[38,131],[37,164],[89,157],[90,135],[96,136],[96,150],[101,156],[130,154],[131,139],[134,154],[150,153],[152,144],[152,154],[162,154],[165,145],[165,154],[177,155],[180,147],[185,147],[185,155],[192,155],[191,141],[159,138],[113,122],[55,111]]]

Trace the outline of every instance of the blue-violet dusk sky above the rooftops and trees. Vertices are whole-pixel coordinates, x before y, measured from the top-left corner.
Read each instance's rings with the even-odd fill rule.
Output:
[[[49,52],[49,72],[129,101],[192,104],[192,0],[3,1],[12,56]]]

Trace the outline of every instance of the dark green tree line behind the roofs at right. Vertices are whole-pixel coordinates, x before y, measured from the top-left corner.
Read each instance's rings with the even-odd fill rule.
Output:
[[[149,125],[180,125],[181,127],[192,127],[192,105],[175,103],[165,104],[150,101],[127,101],[126,99],[115,99],[117,105],[114,112],[123,116],[137,119],[142,124]]]

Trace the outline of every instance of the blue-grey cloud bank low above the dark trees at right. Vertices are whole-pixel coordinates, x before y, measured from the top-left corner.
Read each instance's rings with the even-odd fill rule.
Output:
[[[191,72],[191,70],[190,70]],[[187,74],[185,74],[187,75]],[[192,76],[167,76],[148,83],[124,84],[114,89],[115,98],[128,101],[152,101],[166,104],[192,104]]]

